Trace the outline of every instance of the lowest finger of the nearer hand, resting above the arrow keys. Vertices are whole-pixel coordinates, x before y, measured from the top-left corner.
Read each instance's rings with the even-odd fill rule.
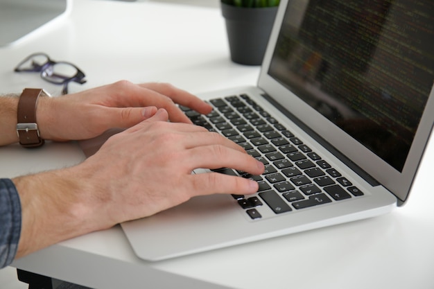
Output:
[[[189,175],[187,180],[193,195],[211,195],[214,193],[249,195],[256,193],[259,189],[258,183],[252,179],[221,173]]]

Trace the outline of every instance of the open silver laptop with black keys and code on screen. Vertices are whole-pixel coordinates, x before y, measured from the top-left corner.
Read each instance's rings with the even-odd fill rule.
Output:
[[[408,200],[434,121],[426,6],[282,0],[257,87],[182,109],[266,164],[255,195],[209,195],[121,224],[147,261],[371,218]],[[418,15],[417,19],[411,15]],[[198,168],[195,173],[209,173]],[[171,241],[167,241],[171,240]]]

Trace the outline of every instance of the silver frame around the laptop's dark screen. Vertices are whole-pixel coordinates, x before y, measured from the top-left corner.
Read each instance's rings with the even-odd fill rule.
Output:
[[[291,114],[311,128],[316,134],[319,134],[324,141],[327,141],[327,143],[336,148],[336,150],[341,152],[348,159],[351,159],[356,166],[374,177],[374,179],[391,191],[401,203],[406,202],[411,185],[413,184],[413,179],[417,173],[417,168],[422,160],[424,150],[430,138],[431,131],[433,130],[434,86],[428,97],[424,114],[417,128],[415,139],[408,152],[403,170],[399,172],[268,74],[277,37],[279,36],[284,14],[287,10],[288,1],[289,0],[282,0],[280,3],[275,24],[272,28],[270,40],[264,55],[258,86],[263,89],[263,91],[266,91],[270,98],[277,101],[277,103],[283,107],[290,107]]]

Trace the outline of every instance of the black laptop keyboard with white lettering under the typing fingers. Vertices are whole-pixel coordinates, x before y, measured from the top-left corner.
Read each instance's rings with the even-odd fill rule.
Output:
[[[259,212],[263,206],[280,214],[363,195],[247,94],[215,98],[209,103],[214,110],[206,116],[180,108],[194,124],[223,134],[265,165],[262,175],[231,168],[214,170],[258,182],[256,195],[232,195],[250,218],[263,218]]]

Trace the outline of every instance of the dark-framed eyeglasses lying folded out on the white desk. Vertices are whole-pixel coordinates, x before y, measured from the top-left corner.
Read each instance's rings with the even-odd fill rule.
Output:
[[[55,85],[63,85],[62,94],[68,93],[69,82],[80,85],[86,82],[85,73],[74,64],[64,61],[53,61],[45,53],[35,53],[19,62],[15,72],[40,72],[43,80]]]

